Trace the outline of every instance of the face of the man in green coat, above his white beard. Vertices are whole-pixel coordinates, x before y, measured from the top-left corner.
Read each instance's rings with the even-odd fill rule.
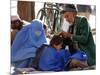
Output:
[[[74,12],[65,12],[63,17],[68,21],[70,24],[73,24],[75,19],[75,13]]]

